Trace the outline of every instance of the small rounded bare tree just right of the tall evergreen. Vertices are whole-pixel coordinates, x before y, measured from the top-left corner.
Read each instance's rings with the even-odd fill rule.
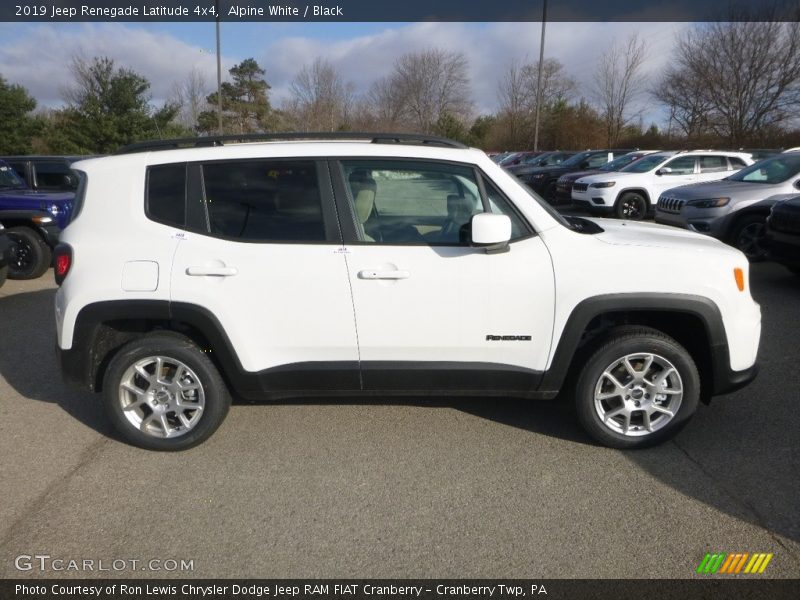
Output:
[[[353,86],[327,60],[304,66],[291,85],[288,112],[303,131],[336,131],[346,127]]]

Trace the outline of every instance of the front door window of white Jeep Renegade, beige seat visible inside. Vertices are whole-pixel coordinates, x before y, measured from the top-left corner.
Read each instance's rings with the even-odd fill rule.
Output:
[[[342,175],[360,241],[466,246],[473,215],[485,212],[469,166],[354,160],[342,163]],[[505,198],[493,186],[485,189],[488,209],[512,218],[514,237],[527,233]]]

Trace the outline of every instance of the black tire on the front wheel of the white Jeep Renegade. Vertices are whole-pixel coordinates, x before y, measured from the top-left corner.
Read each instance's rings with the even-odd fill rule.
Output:
[[[639,354],[642,356],[636,356]],[[654,358],[652,366],[645,369],[647,356]],[[629,371],[613,370],[612,366],[617,363],[620,364],[619,368],[622,368],[624,357],[629,358],[628,362],[635,371],[642,373],[644,381],[652,384],[657,382],[659,373],[667,373],[664,382],[652,387],[645,386],[636,383],[636,379]],[[675,369],[677,376],[671,373],[667,365]],[[642,370],[636,367],[642,367]],[[611,372],[618,383],[627,386],[624,388],[627,390],[624,394],[628,391],[631,394],[615,395],[616,386],[605,376],[607,371]],[[650,376],[649,380],[647,375]],[[680,384],[682,391],[680,396],[671,394],[677,389],[674,387],[676,384]],[[608,386],[611,386],[610,390]],[[671,386],[671,389],[667,386]],[[653,394],[654,389],[659,390],[656,395]],[[610,397],[603,398],[603,396]],[[586,361],[575,384],[575,408],[578,420],[592,438],[611,448],[644,448],[672,438],[695,413],[699,398],[700,375],[692,357],[674,339],[647,327],[612,330],[605,342]],[[658,404],[661,410],[655,411],[650,408],[655,404]],[[663,409],[673,408],[672,416],[662,412]],[[601,410],[607,421],[601,417]],[[615,416],[613,415],[615,410],[633,411],[628,414],[627,427],[625,415]],[[652,410],[654,416],[652,421],[645,422],[645,414],[650,414],[648,410]],[[662,418],[666,420],[660,421]],[[650,423],[653,429],[649,433],[647,423]]]

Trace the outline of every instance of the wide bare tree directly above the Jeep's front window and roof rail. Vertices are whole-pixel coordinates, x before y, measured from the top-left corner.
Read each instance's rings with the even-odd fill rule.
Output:
[[[466,119],[472,110],[467,59],[460,52],[422,50],[401,56],[381,93],[392,93],[402,117],[422,133],[440,119]]]

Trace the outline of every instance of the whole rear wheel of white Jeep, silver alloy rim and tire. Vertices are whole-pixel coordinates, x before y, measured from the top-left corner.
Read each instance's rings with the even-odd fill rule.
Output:
[[[211,360],[189,339],[168,333],[120,349],[109,363],[103,394],[117,431],[149,450],[185,450],[203,442],[231,403]]]

